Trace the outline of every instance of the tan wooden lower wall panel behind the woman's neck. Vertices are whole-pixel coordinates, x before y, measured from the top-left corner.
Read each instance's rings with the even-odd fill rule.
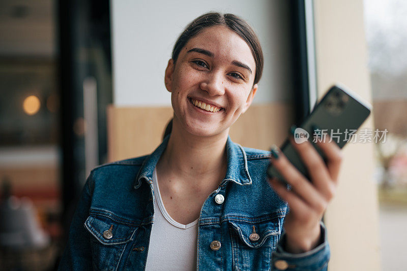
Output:
[[[268,150],[280,145],[293,120],[290,104],[252,105],[230,128],[230,137],[246,147]],[[107,110],[108,160],[151,153],[161,142],[171,107],[114,107]]]

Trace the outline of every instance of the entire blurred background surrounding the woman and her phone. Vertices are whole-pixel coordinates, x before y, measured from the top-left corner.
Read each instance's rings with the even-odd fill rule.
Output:
[[[172,46],[211,10],[246,19],[265,54],[235,142],[281,144],[334,82],[371,102],[362,127],[386,136],[345,147],[329,268],[406,269],[407,2],[0,0],[0,270],[56,269],[92,168],[159,144]]]

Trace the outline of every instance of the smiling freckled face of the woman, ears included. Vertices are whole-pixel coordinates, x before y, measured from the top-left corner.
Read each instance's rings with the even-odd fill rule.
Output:
[[[202,30],[165,71],[173,127],[202,137],[228,133],[256,93],[255,72],[250,48],[237,33],[224,26]]]

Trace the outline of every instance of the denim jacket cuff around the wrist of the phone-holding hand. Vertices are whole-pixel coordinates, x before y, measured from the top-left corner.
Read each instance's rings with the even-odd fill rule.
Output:
[[[304,253],[289,253],[284,251],[285,233],[281,234],[277,249],[273,252],[273,270],[286,271],[315,271],[327,270],[330,258],[330,249],[327,240],[327,230],[321,222],[322,243],[316,248]]]

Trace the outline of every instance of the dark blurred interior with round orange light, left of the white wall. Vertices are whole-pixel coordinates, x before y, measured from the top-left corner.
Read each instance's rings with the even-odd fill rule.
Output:
[[[108,1],[0,1],[0,269],[53,270],[106,161]]]

